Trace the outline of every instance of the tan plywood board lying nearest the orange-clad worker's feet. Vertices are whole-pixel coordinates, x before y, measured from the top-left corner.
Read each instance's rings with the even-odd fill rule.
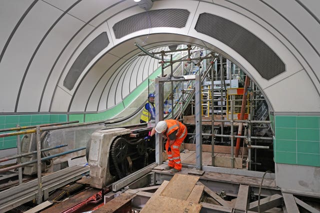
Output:
[[[198,180],[198,176],[175,174],[160,195],[185,201]]]

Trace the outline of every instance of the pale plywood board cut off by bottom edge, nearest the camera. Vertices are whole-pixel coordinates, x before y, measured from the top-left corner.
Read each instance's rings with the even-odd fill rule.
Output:
[[[151,198],[153,198],[153,196]],[[152,203],[146,203],[140,213],[199,213],[200,210],[200,204],[165,196],[156,196],[156,199],[154,199]]]

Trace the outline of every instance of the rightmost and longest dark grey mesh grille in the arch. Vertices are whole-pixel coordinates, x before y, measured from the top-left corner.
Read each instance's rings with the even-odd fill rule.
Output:
[[[201,13],[195,30],[234,49],[267,80],[285,71],[284,63],[268,45],[232,21],[213,14]]]

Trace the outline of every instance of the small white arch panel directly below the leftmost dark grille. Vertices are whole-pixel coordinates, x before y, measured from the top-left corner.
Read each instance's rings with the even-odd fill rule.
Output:
[[[55,93],[56,95],[52,101],[51,112],[67,112],[72,96],[60,87],[56,88]]]

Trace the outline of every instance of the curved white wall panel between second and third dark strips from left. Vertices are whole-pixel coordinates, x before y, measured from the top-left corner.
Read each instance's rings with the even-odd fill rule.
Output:
[[[55,59],[82,24],[78,19],[70,15],[64,15],[50,31],[35,54],[25,77],[17,108],[18,112],[38,110],[44,83]]]

